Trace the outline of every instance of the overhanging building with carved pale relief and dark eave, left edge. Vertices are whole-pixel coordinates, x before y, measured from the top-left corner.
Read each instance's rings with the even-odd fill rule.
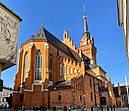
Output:
[[[0,63],[2,63],[2,70],[16,64],[21,20],[19,16],[0,2]]]

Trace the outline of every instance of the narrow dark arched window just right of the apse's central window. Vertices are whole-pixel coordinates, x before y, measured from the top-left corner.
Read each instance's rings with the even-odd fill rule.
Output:
[[[49,55],[49,81],[53,79],[53,57],[52,54]]]

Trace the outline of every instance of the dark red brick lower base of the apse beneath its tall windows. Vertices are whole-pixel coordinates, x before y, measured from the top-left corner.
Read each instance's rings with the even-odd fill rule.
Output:
[[[48,91],[42,89],[42,85],[33,85],[32,90],[24,90],[23,93],[14,92],[13,107],[48,107]]]

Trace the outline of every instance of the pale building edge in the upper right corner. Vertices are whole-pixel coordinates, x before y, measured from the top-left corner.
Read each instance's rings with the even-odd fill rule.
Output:
[[[129,1],[117,0],[118,6],[118,23],[122,26],[124,35],[125,51],[127,56],[127,63],[129,68]]]

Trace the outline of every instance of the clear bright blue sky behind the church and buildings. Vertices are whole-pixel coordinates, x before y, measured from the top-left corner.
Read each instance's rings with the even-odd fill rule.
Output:
[[[129,78],[122,28],[118,26],[116,0],[1,0],[17,13],[20,24],[19,44],[28,40],[42,26],[62,39],[67,29],[79,46],[83,34],[83,6],[86,4],[89,32],[97,47],[97,64],[111,76],[113,83],[124,83]],[[2,72],[6,86],[13,87],[17,65]]]

